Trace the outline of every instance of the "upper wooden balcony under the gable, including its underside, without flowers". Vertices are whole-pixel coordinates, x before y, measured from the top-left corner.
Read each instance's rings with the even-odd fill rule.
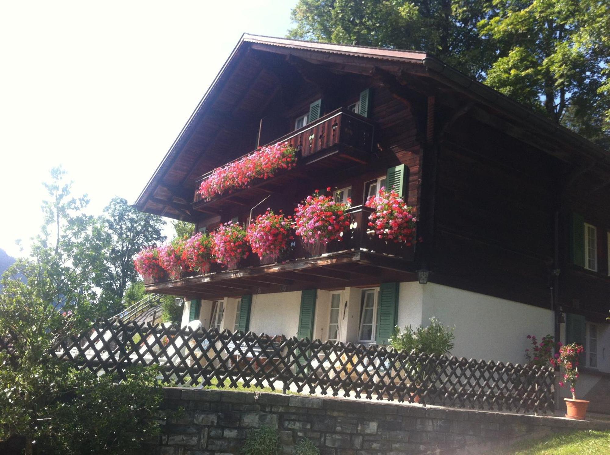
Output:
[[[269,193],[281,192],[283,185],[295,177],[301,179],[320,176],[323,173],[350,164],[365,164],[373,149],[373,123],[367,118],[345,109],[337,109],[290,134],[279,137],[268,145],[287,142],[297,150],[297,165],[287,171],[279,171],[271,179],[254,181],[248,188],[218,195],[203,200],[199,195],[201,182],[215,171],[195,181],[193,209],[207,213],[218,213],[224,204],[246,204]],[[238,162],[254,151],[243,155],[224,166]],[[223,167],[224,167],[223,166]]]

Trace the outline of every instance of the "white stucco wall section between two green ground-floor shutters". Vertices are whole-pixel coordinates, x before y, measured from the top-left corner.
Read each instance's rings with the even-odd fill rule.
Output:
[[[301,292],[255,294],[250,309],[250,330],[268,335],[296,335]]]

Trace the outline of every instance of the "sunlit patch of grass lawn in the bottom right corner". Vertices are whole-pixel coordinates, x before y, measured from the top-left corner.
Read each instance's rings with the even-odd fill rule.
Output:
[[[505,455],[606,455],[610,454],[610,431],[581,430],[516,443]]]

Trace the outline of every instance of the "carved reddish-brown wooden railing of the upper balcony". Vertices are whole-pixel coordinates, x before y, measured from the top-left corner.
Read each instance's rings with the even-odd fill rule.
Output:
[[[289,143],[298,152],[297,165],[315,161],[318,157],[325,156],[323,152],[333,152],[336,149],[351,153],[352,159],[366,162],[373,149],[373,131],[373,123],[367,120],[367,118],[345,109],[337,109],[290,134],[279,137],[267,145],[278,142]],[[256,151],[240,156],[226,163],[223,167],[238,162],[254,152]],[[212,170],[203,174],[203,176],[195,181],[193,202],[201,201],[199,186],[214,171]],[[255,183],[253,182],[253,184]],[[220,198],[222,195],[217,197]]]

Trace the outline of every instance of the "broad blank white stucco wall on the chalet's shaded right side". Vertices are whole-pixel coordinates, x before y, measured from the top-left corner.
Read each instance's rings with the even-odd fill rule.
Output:
[[[523,364],[527,335],[553,334],[551,310],[434,283],[423,285],[422,320],[455,326],[451,354]]]

